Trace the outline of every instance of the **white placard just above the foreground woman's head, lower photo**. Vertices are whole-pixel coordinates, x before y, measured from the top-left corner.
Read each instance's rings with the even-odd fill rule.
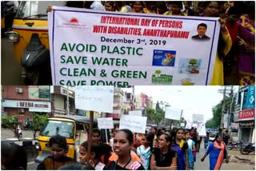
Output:
[[[123,114],[119,129],[130,129],[133,133],[146,133],[147,117],[137,117]]]

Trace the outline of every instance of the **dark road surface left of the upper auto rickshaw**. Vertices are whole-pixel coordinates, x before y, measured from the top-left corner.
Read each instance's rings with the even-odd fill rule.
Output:
[[[2,85],[24,85],[22,66],[14,59],[13,43],[1,38],[1,82]]]

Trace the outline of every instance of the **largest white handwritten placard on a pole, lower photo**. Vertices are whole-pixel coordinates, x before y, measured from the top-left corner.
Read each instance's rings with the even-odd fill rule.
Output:
[[[113,112],[114,86],[76,86],[75,109],[90,110],[96,112]]]

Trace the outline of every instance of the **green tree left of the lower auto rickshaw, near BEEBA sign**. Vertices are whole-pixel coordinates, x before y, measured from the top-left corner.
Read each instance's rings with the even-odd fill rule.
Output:
[[[32,113],[32,128],[33,128],[33,137],[35,139],[36,133],[42,129],[45,125],[48,115],[42,113]]]

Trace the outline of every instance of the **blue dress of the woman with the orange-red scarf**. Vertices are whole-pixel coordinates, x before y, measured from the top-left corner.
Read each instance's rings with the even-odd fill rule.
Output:
[[[209,159],[210,159],[210,170],[213,170],[217,161],[218,161],[218,155],[221,152],[220,149],[217,149],[214,147],[214,142],[211,142],[207,151],[206,155],[210,153]],[[224,158],[226,158],[226,149],[224,150]]]

